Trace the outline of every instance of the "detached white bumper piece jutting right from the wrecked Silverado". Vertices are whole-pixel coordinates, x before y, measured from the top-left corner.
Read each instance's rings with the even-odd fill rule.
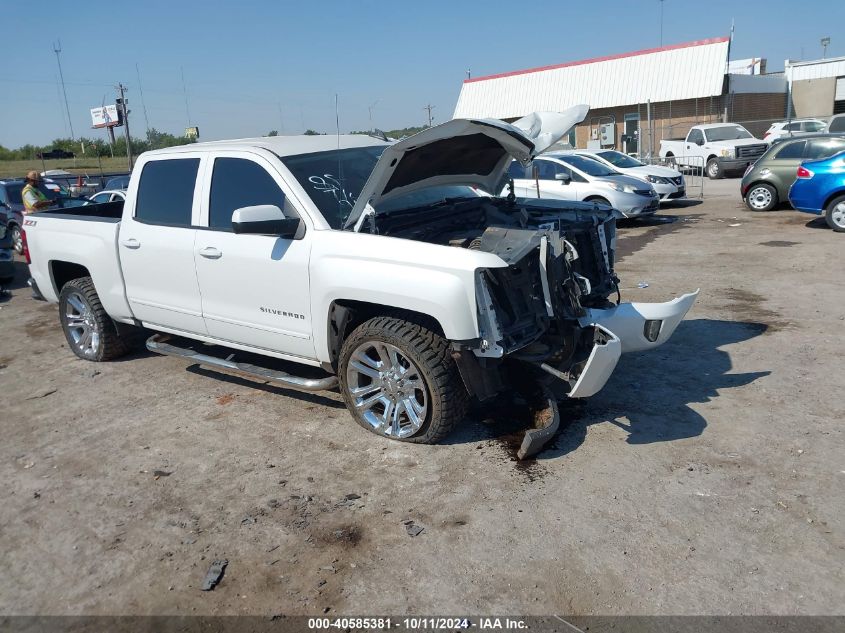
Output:
[[[663,345],[672,336],[698,297],[698,290],[665,303],[620,303],[608,309],[588,309],[578,319],[582,327],[600,325],[622,342],[622,353],[639,352]],[[645,337],[646,321],[662,321],[657,340]]]

